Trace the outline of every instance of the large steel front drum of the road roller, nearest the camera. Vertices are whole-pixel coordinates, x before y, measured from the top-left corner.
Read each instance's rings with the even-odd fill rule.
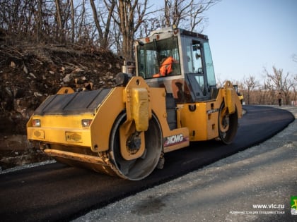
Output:
[[[148,123],[148,130],[144,132],[144,154],[139,158],[127,160],[122,157],[120,150],[120,126],[126,119],[126,113],[121,113],[114,123],[110,136],[110,158],[115,167],[113,170],[121,178],[141,180],[151,174],[160,159],[163,147],[161,127],[156,116],[152,115]]]

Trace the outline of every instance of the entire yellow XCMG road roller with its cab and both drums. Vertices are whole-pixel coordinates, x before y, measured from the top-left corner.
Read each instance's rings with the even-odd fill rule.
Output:
[[[231,82],[216,87],[205,35],[158,30],[136,41],[135,57],[136,76],[126,67],[113,88],[48,97],[27,123],[28,140],[62,163],[129,180],[192,141],[232,142],[241,104]]]

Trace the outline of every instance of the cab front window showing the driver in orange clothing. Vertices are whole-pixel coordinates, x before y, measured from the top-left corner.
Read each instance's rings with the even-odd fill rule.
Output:
[[[139,45],[137,56],[138,74],[145,79],[181,74],[177,37]]]

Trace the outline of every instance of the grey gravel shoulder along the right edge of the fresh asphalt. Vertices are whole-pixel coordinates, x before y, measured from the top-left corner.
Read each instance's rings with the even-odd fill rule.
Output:
[[[296,129],[74,221],[297,221]]]

